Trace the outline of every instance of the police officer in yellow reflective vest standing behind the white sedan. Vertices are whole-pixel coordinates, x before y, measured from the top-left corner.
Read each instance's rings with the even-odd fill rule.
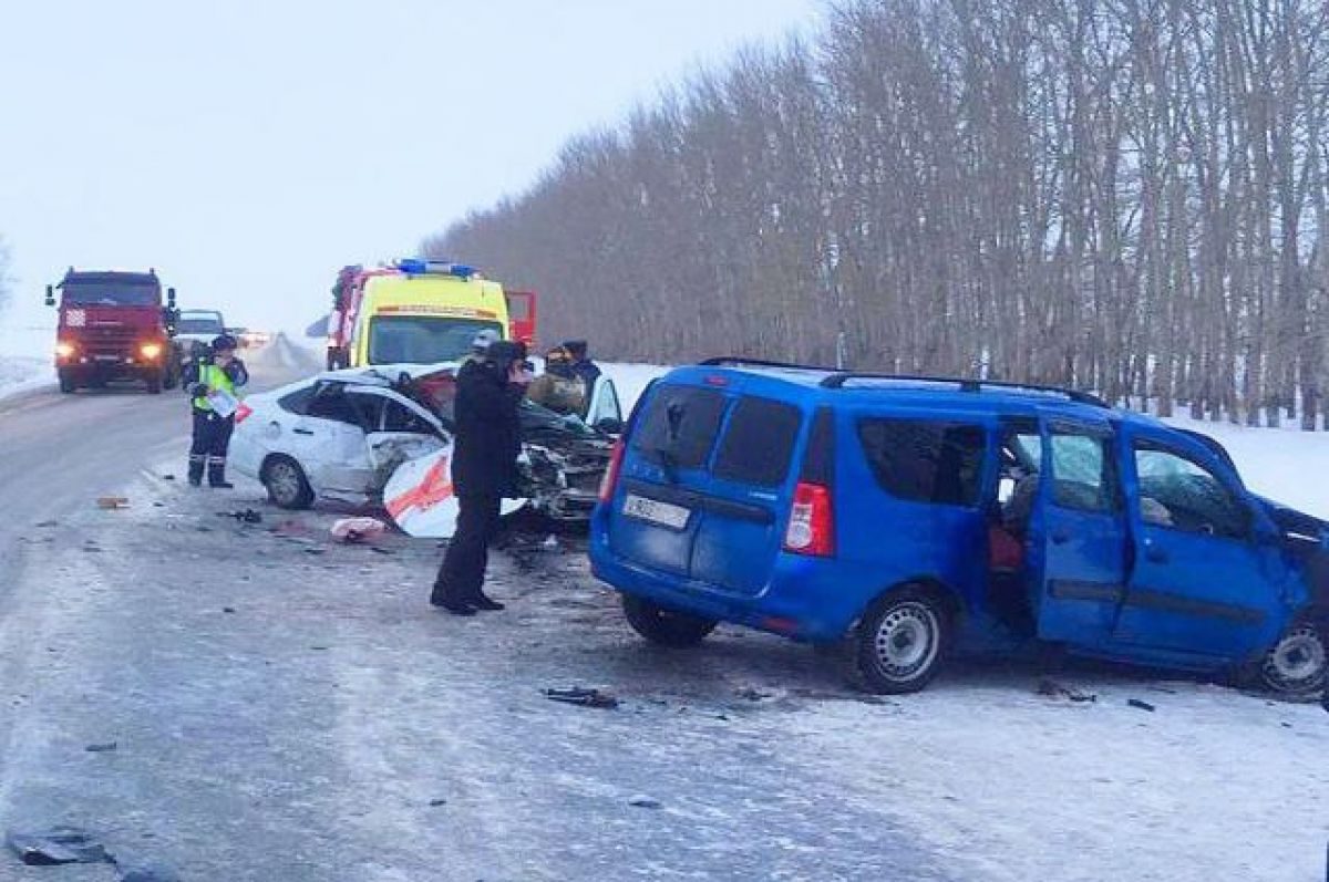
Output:
[[[235,486],[226,480],[226,448],[235,429],[235,410],[229,402],[238,404],[235,389],[249,383],[249,371],[235,357],[235,337],[223,333],[213,340],[213,356],[195,361],[186,373],[189,393],[194,398],[189,482],[195,487],[203,484],[205,466],[209,486]]]

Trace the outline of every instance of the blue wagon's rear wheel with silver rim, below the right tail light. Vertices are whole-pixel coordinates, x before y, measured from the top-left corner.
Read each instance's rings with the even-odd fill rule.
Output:
[[[878,598],[859,622],[851,668],[855,683],[880,695],[926,687],[945,658],[952,618],[936,591],[905,587]]]

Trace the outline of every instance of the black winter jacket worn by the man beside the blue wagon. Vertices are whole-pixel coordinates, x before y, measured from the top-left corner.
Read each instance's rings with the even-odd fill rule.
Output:
[[[522,388],[492,361],[468,361],[457,372],[452,405],[456,449],[452,486],[461,495],[517,495]]]

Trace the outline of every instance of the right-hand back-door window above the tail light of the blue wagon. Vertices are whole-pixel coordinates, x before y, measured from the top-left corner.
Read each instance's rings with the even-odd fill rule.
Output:
[[[712,473],[724,481],[763,487],[784,484],[801,428],[803,412],[792,404],[739,398]]]

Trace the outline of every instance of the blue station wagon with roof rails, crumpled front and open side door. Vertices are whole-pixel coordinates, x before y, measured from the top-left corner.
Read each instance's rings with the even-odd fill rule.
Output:
[[[1329,523],[1215,440],[1069,389],[716,359],[642,396],[591,521],[642,636],[845,644],[877,692],[1057,644],[1289,695],[1329,665]]]

